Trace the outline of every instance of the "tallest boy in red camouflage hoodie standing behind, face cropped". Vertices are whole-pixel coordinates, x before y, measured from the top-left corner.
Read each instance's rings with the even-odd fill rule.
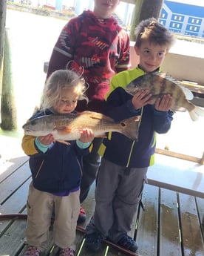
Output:
[[[85,10],[69,20],[61,31],[52,51],[47,77],[58,69],[74,69],[86,80],[86,101],[78,102],[77,111],[103,112],[103,100],[115,73],[129,68],[129,36],[112,16],[119,0],[95,0],[94,10]],[[102,139],[95,138],[92,153],[84,157],[81,182],[81,203],[101,163],[98,148]],[[86,220],[81,208],[78,223]]]

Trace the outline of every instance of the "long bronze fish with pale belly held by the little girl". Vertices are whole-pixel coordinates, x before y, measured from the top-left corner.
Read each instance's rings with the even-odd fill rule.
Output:
[[[115,122],[109,116],[84,111],[79,114],[52,114],[31,119],[23,125],[25,135],[35,137],[53,134],[55,140],[77,140],[84,128],[92,129],[95,137],[105,137],[105,133],[116,131],[126,135],[131,140],[138,138],[139,117],[133,116],[120,122]]]

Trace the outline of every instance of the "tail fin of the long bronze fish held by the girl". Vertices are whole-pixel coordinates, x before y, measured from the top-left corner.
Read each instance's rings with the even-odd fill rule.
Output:
[[[122,134],[126,135],[130,140],[138,140],[140,116],[133,116],[120,122],[122,126]]]

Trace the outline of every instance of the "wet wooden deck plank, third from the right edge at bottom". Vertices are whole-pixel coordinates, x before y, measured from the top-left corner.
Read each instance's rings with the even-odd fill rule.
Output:
[[[160,255],[182,255],[177,193],[160,189]]]

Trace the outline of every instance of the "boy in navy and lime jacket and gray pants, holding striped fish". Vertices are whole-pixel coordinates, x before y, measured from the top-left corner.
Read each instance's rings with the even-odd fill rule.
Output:
[[[148,90],[131,96],[124,88],[138,76],[160,69],[174,42],[173,35],[157,20],[147,19],[137,26],[135,36],[140,64],[112,77],[105,114],[115,121],[140,116],[139,138],[135,142],[121,134],[109,133],[101,145],[103,158],[95,189],[95,213],[86,227],[85,242],[86,249],[94,252],[101,249],[103,238],[137,251],[137,243],[128,232],[140,202],[146,172],[154,163],[156,133],[165,134],[171,126],[170,95],[164,95],[152,105]]]

